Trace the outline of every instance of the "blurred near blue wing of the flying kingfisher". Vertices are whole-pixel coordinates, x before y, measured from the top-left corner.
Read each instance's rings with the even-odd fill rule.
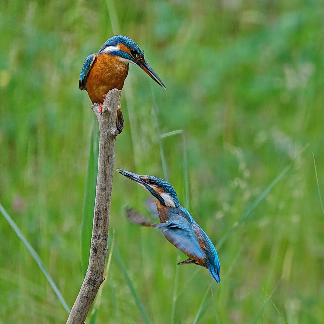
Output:
[[[204,259],[205,254],[193,231],[193,226],[179,214],[173,215],[168,222],[156,224],[167,240],[191,259]]]

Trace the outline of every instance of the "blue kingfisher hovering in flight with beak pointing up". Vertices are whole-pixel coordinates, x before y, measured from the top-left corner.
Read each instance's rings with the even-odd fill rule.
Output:
[[[220,264],[216,249],[191,214],[180,205],[177,193],[168,181],[153,176],[141,176],[121,169],[117,171],[137,182],[153,195],[160,224],[148,222],[131,209],[127,211],[128,219],[136,225],[161,229],[166,239],[188,256],[188,259],[179,262],[179,265],[193,263],[207,268],[212,278],[219,283]]]

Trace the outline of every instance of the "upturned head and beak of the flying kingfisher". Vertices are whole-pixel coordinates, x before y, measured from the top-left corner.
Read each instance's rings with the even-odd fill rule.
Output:
[[[168,181],[152,176],[140,176],[139,174],[121,169],[117,169],[117,171],[123,176],[137,182],[163,206],[180,207],[177,193]]]

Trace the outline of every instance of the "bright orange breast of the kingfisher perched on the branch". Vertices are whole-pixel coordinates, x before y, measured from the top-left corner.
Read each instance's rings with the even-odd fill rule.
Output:
[[[127,73],[128,64],[123,63],[117,56],[97,56],[87,79],[87,92],[92,103],[103,102],[102,96],[111,89],[121,90]]]

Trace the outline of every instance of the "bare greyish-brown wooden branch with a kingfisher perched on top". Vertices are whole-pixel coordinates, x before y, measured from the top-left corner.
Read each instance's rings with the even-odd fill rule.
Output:
[[[93,217],[93,228],[90,248],[89,266],[80,292],[74,302],[66,324],[83,324],[89,309],[104,281],[104,270],[107,254],[109,230],[110,201],[112,177],[115,163],[115,144],[117,108],[121,91],[112,89],[103,103],[102,116],[99,105],[91,106],[99,122],[99,159],[96,188],[96,202]]]

